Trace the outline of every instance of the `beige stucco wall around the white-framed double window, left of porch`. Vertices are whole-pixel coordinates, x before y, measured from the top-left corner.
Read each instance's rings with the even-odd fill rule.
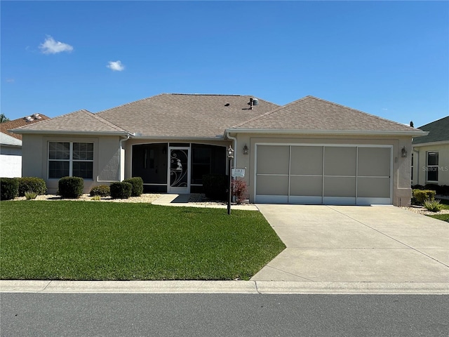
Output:
[[[46,180],[47,192],[58,190],[59,179],[48,179],[48,142],[93,143],[93,180],[84,180],[84,193],[95,185],[109,185],[119,181],[120,137],[76,137],[76,136],[22,136],[22,176],[39,177]]]

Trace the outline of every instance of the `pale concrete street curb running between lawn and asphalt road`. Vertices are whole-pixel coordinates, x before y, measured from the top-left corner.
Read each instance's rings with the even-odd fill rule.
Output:
[[[1,280],[1,293],[435,294],[447,282],[34,281]]]

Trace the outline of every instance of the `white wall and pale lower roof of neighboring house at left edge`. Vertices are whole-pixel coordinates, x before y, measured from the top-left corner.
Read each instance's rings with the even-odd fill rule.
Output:
[[[22,140],[0,132],[0,177],[22,176]]]

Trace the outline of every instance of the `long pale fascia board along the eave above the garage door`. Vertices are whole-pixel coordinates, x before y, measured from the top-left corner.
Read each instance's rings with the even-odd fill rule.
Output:
[[[226,133],[264,133],[264,134],[293,134],[293,135],[361,135],[361,136],[427,136],[429,131],[377,131],[377,130],[286,130],[261,128],[227,128]]]

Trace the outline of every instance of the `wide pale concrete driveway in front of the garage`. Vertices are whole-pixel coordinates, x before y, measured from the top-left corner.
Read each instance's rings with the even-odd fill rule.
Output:
[[[286,244],[252,278],[449,282],[449,223],[395,206],[257,204]]]

